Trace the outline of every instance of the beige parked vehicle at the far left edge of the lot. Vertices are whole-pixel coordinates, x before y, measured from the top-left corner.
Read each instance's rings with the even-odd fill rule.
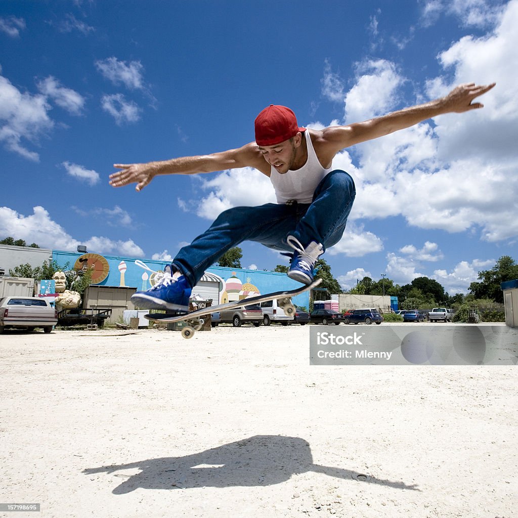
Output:
[[[6,327],[42,327],[45,333],[57,323],[56,310],[46,298],[9,296],[0,299],[0,333]]]

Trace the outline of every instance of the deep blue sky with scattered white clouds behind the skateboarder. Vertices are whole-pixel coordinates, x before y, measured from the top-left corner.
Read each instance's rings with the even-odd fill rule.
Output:
[[[425,275],[454,294],[518,260],[518,0],[4,0],[0,238],[168,259],[228,207],[274,201],[250,169],[114,189],[114,163],[235,148],[269,104],[300,125],[369,119],[497,82],[483,110],[342,151],[357,188],[324,258],[344,288]],[[243,267],[284,258],[243,243]]]

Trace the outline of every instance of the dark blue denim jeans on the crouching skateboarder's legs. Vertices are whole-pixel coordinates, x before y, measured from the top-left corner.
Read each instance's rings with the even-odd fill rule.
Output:
[[[172,264],[194,286],[207,268],[243,241],[292,252],[286,243],[286,237],[291,235],[304,247],[316,241],[325,250],[341,239],[355,196],[353,179],[337,169],[320,182],[310,204],[269,203],[225,210],[206,232],[178,252]]]

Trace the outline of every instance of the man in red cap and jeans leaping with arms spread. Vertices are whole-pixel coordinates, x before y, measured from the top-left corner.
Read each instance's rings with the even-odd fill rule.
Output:
[[[110,184],[121,187],[136,183],[136,191],[159,175],[253,167],[270,178],[277,197],[277,204],[222,212],[206,232],[178,252],[159,283],[146,292],[135,293],[132,301],[141,308],[187,311],[191,289],[205,270],[245,240],[291,251],[287,275],[310,284],[316,260],[342,237],[356,193],[350,175],[333,170],[334,156],[359,142],[442,113],[482,108],[473,99],[494,85],[462,84],[429,103],[323,130],[299,127],[292,110],[270,105],[255,119],[255,141],[240,148],[163,162],[114,164],[119,171],[110,175]]]

